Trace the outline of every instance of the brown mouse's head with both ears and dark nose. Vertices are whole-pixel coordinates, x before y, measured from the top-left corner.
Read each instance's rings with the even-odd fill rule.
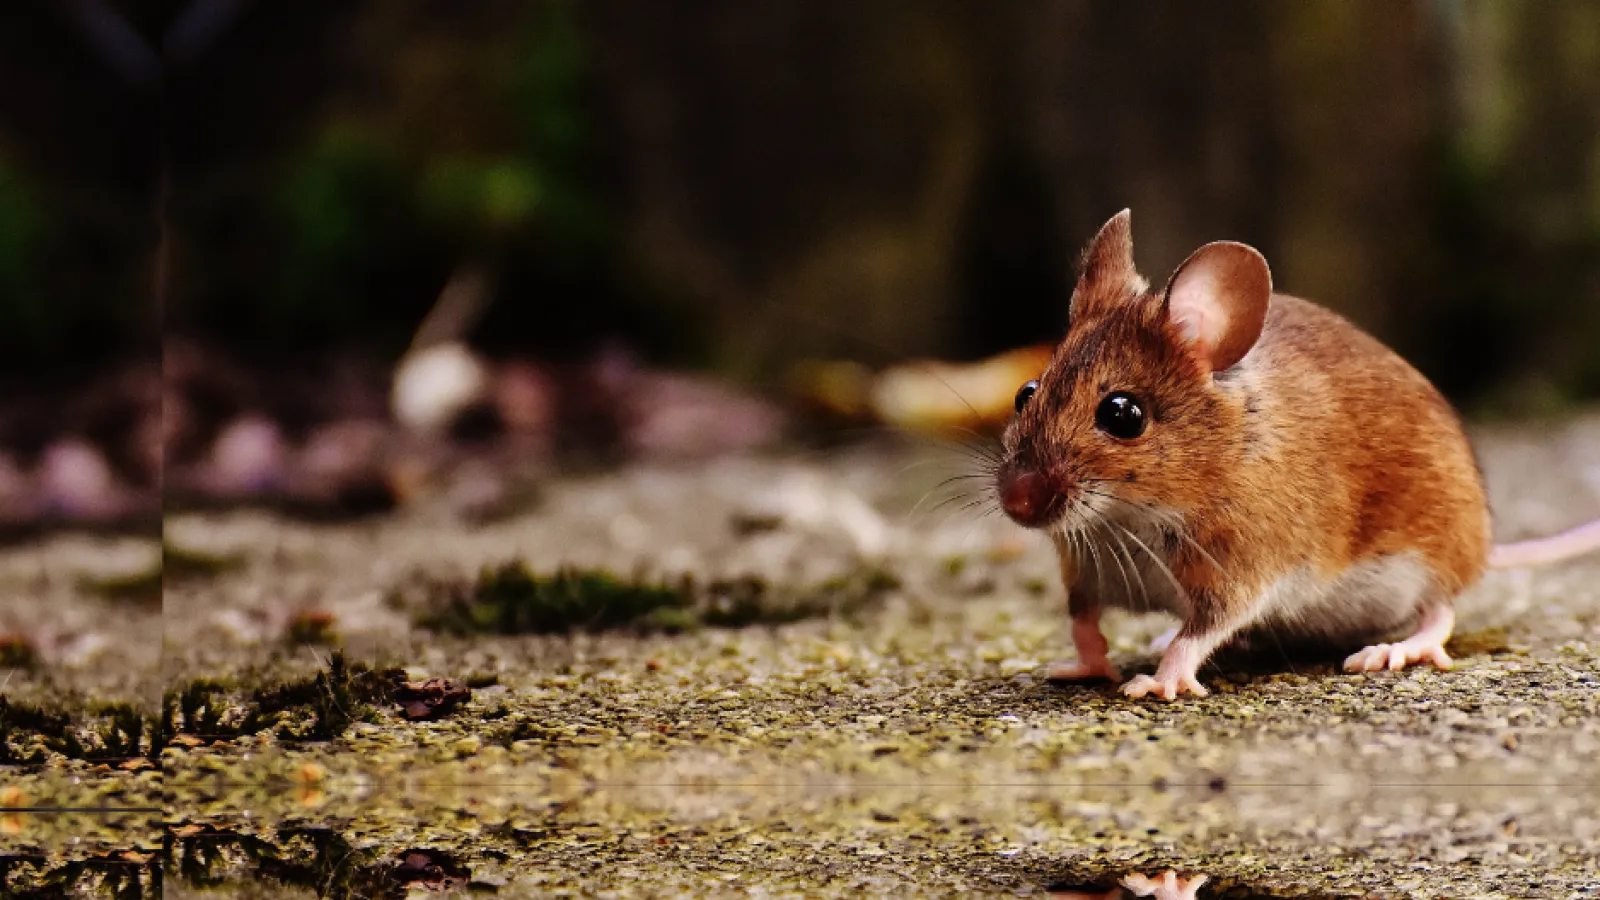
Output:
[[[1118,511],[1192,509],[1243,444],[1245,404],[1224,384],[1270,296],[1261,253],[1229,242],[1150,291],[1117,213],[1083,253],[1066,338],[1016,394],[997,471],[1006,514],[1066,533]]]

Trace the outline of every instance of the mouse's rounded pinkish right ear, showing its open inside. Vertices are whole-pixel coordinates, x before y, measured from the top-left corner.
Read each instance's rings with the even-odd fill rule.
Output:
[[[1272,271],[1254,248],[1232,240],[1195,250],[1166,282],[1162,311],[1195,359],[1230,368],[1256,346],[1272,298]]]

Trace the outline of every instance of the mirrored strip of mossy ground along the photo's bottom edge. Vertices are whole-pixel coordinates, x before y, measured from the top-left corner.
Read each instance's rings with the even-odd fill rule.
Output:
[[[1398,900],[1600,886],[1584,786],[213,788],[165,822],[0,822],[0,897]]]

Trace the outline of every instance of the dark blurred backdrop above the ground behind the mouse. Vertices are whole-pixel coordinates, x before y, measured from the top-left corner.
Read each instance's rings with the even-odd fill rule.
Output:
[[[450,283],[490,432],[710,415],[637,380],[773,397],[808,359],[1053,340],[1122,207],[1152,280],[1254,243],[1469,412],[1600,397],[1600,5],[0,8],[6,397],[125,384],[165,331],[168,464],[238,484],[378,440],[317,429],[392,418]],[[630,415],[600,434],[677,434]],[[56,424],[0,434],[19,477]]]

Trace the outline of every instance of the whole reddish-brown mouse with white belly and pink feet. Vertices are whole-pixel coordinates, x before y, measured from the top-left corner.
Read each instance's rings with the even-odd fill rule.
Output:
[[[1206,695],[1221,649],[1448,669],[1454,601],[1485,570],[1600,549],[1600,519],[1493,544],[1451,404],[1350,320],[1275,293],[1250,245],[1206,243],[1150,290],[1123,210],[1078,259],[1067,320],[992,472],[1059,557],[1077,660],[1051,681],[1122,681],[1107,609],[1179,621],[1155,674],[1122,685],[1133,698]]]

